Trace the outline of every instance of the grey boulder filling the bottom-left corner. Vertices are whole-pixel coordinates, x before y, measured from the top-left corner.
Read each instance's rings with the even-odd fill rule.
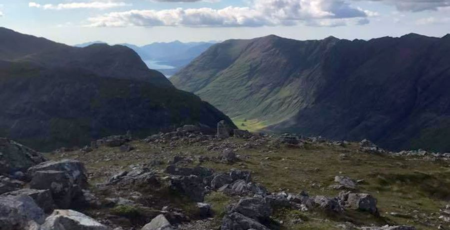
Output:
[[[0,196],[0,229],[26,229],[31,222],[44,222],[43,210],[27,195]]]

